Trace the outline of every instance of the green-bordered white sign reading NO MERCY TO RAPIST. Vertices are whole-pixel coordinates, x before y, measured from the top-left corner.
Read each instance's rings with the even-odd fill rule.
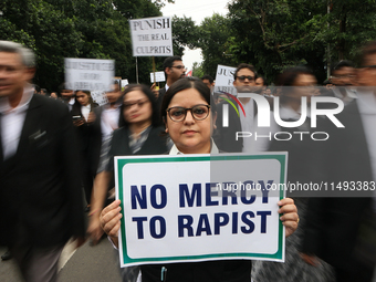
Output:
[[[285,168],[285,153],[115,157],[121,265],[283,261]]]

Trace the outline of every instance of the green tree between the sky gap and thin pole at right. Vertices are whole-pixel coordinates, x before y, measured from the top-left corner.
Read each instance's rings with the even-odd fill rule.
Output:
[[[252,63],[269,81],[289,65],[315,65],[322,44],[312,39],[324,24],[316,2],[233,1],[229,17],[236,58]],[[321,64],[315,66],[323,70],[324,49],[318,55]]]

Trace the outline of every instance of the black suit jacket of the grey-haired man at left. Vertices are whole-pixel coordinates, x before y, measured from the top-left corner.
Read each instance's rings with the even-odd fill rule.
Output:
[[[84,236],[77,156],[69,108],[34,95],[15,155],[0,156],[1,244],[50,247]]]

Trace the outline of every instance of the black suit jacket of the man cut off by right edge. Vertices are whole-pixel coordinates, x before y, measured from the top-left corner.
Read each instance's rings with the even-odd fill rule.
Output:
[[[368,145],[356,103],[349,104],[337,115],[345,128],[335,128],[331,122],[317,130],[330,134],[330,139],[322,143],[311,161],[316,163],[315,182],[373,181]],[[316,157],[316,158],[315,158]],[[375,249],[367,248],[363,241],[364,227],[375,236],[369,224],[372,219],[370,197],[341,197],[346,191],[336,190],[338,197],[311,198],[309,202],[303,252],[321,257],[332,265],[347,271],[356,271],[359,265],[370,270],[375,265]],[[354,195],[353,195],[354,196]],[[367,196],[357,192],[355,196]],[[373,222],[375,220],[372,220]],[[372,246],[372,244],[369,244]],[[367,258],[367,259],[365,259]]]

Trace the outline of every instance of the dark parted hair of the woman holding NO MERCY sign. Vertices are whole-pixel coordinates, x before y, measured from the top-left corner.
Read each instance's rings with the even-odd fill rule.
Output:
[[[198,77],[184,77],[175,82],[166,92],[164,100],[161,102],[160,107],[160,115],[164,121],[166,121],[167,112],[169,103],[171,102],[173,97],[180,91],[195,88],[197,90],[201,97],[210,105],[210,109],[212,113],[217,113],[216,103],[212,101],[210,95],[210,90],[205,83]]]

